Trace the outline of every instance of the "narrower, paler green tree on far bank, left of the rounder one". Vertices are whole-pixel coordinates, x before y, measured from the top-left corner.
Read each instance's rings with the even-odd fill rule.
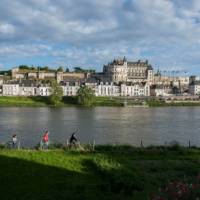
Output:
[[[56,81],[52,81],[50,92],[49,101],[52,105],[57,106],[62,100],[63,89]]]

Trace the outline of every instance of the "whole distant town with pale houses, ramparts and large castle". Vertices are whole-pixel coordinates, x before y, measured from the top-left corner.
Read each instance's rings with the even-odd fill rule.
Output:
[[[162,97],[165,99],[199,99],[200,77],[165,75],[154,71],[148,60],[114,59],[103,66],[101,73],[79,67],[74,71],[59,67],[21,65],[0,75],[1,96],[49,96],[50,82],[56,80],[64,96],[76,96],[86,85],[95,96]]]

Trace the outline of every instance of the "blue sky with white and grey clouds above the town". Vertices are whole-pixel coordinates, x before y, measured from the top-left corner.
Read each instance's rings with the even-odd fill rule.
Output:
[[[0,70],[102,71],[124,56],[200,75],[200,0],[0,1]]]

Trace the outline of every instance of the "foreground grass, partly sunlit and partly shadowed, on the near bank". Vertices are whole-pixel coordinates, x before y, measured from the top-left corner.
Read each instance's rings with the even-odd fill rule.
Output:
[[[102,146],[95,152],[0,150],[2,200],[148,200],[169,181],[192,182],[200,150]],[[192,200],[192,199],[190,199]]]

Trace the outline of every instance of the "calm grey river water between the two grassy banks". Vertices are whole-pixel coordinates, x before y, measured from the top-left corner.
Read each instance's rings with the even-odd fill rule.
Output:
[[[200,107],[0,108],[0,143],[16,133],[33,147],[46,129],[51,142],[65,143],[78,129],[81,143],[200,146]]]

